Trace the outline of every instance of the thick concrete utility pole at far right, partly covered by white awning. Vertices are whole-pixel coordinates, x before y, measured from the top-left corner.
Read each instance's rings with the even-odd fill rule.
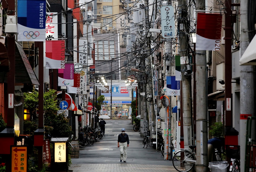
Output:
[[[250,43],[248,29],[248,1],[244,0],[240,4],[240,19],[241,19],[241,35],[240,35],[240,57]],[[240,114],[248,114],[255,116],[255,76],[254,66],[241,66],[240,71]],[[240,169],[244,172],[245,166],[245,146],[246,146],[246,125],[247,119],[240,118]],[[252,136],[255,135],[255,130],[252,130]],[[252,138],[253,139],[253,138]],[[255,139],[255,138],[254,138]]]

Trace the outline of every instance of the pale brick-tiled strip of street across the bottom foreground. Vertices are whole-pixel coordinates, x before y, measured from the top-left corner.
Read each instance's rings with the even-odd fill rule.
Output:
[[[71,164],[69,170],[73,172],[176,172],[173,166],[146,164]]]

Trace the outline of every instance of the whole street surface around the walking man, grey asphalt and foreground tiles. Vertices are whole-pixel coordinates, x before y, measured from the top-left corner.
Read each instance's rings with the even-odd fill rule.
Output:
[[[80,147],[79,158],[72,158],[69,170],[73,172],[174,172],[172,161],[164,160],[161,152],[152,147],[143,148],[140,133],[133,131],[131,120],[106,119],[105,136],[94,145]],[[126,163],[120,162],[120,149],[117,147],[118,134],[125,128],[130,145]]]

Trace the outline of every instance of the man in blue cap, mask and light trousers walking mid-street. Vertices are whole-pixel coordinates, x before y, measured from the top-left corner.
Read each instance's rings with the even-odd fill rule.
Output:
[[[129,147],[129,137],[128,134],[125,133],[124,128],[122,128],[122,133],[118,135],[117,147],[120,147],[120,162],[124,160],[124,163],[126,163],[127,147]]]

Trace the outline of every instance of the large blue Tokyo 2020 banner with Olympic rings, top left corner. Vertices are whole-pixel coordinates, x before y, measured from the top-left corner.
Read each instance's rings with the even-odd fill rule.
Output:
[[[45,41],[46,1],[18,0],[18,41]]]

